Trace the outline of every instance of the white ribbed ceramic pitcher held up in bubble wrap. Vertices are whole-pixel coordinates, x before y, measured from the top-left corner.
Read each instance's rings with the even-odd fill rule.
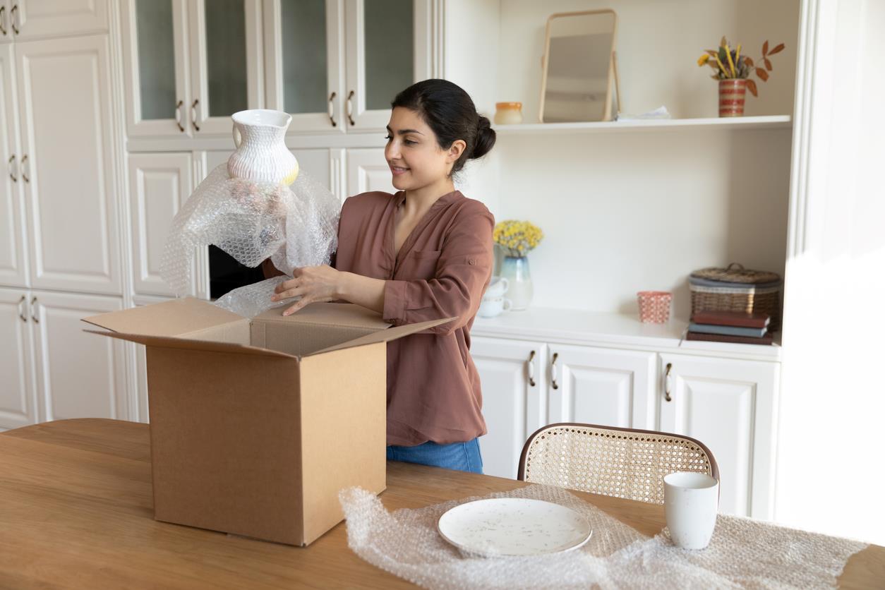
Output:
[[[233,178],[290,185],[298,177],[298,160],[286,147],[292,116],[281,111],[250,109],[235,112],[236,151],[227,159]]]

